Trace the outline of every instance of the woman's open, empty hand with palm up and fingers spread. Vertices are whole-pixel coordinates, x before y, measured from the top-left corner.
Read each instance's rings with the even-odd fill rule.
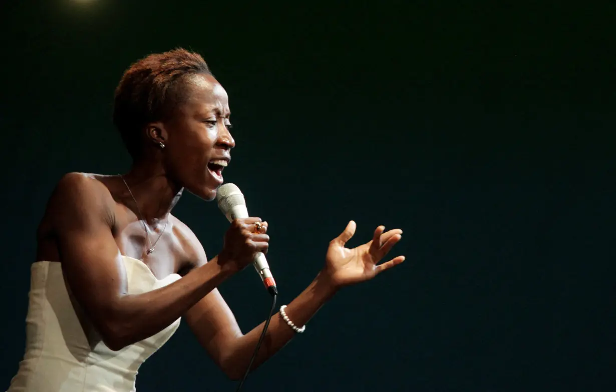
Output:
[[[336,288],[372,279],[377,274],[402,263],[405,258],[398,256],[379,264],[381,258],[402,239],[402,230],[393,229],[385,232],[384,226],[376,228],[372,241],[348,249],[345,244],[355,234],[356,226],[355,222],[349,222],[342,234],[333,239],[327,249],[323,272]]]

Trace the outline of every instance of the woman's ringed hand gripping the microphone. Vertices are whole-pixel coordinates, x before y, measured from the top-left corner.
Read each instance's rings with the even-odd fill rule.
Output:
[[[233,220],[225,234],[218,263],[222,268],[233,272],[243,270],[246,265],[253,262],[254,254],[257,252],[267,254],[269,236],[265,233],[267,233],[267,222],[261,222],[261,218]]]

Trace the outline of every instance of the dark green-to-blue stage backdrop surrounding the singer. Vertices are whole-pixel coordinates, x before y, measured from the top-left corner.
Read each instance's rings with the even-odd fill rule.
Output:
[[[270,223],[279,304],[349,219],[353,244],[405,231],[407,262],[340,292],[246,391],[615,390],[614,2],[245,3],[2,2],[0,388],[52,186],[128,168],[113,89],[183,46],[229,92],[225,177]],[[216,205],[187,195],[177,215],[215,255]],[[251,269],[221,291],[243,330],[267,313]],[[137,386],[235,383],[184,324]]]

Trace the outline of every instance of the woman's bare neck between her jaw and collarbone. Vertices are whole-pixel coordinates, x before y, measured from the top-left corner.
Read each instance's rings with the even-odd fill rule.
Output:
[[[169,180],[160,162],[135,162],[122,178],[132,193],[129,198],[137,203],[139,218],[150,224],[166,219],[182,196],[183,188]]]

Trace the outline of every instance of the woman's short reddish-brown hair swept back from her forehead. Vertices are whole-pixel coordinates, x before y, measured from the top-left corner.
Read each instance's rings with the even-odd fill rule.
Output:
[[[192,74],[211,74],[197,53],[178,48],[151,54],[124,72],[115,90],[113,124],[132,159],[143,150],[140,130],[153,121],[164,121],[185,99],[182,81]]]

